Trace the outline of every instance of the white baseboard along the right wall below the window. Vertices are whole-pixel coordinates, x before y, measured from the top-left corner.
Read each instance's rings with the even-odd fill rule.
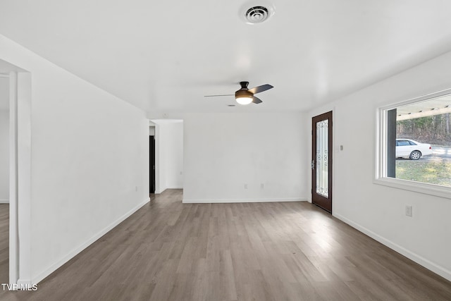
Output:
[[[416,254],[410,250],[407,250],[406,248],[397,245],[395,242],[388,240],[386,238],[383,238],[381,235],[378,235],[374,233],[373,231],[365,228],[364,226],[359,225],[358,223],[354,223],[353,221],[350,221],[349,219],[345,218],[345,216],[341,216],[340,214],[333,214],[337,219],[340,219],[340,221],[343,221],[347,223],[348,225],[352,226],[352,228],[356,228],[358,231],[365,233],[370,238],[373,238],[374,240],[377,240],[378,242],[381,242],[381,244],[390,247],[390,249],[395,250],[396,252],[404,255],[405,257],[412,259],[417,264],[420,264],[421,266],[424,266],[426,269],[429,269],[433,271],[435,274],[438,274],[442,276],[443,278],[446,278],[447,280],[451,281],[451,271],[445,269],[443,266],[439,266],[438,264],[435,264],[431,262],[430,260],[421,257],[419,254]]]

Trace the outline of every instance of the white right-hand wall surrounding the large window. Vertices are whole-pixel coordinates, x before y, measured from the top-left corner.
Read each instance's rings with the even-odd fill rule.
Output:
[[[333,215],[451,280],[451,195],[435,197],[373,183],[376,108],[451,87],[451,53],[315,109],[333,109]],[[310,128],[307,128],[310,130]],[[404,207],[412,204],[413,217]]]

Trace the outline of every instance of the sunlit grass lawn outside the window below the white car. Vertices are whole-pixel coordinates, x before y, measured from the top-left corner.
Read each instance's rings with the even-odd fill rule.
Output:
[[[396,160],[396,178],[451,187],[451,160]]]

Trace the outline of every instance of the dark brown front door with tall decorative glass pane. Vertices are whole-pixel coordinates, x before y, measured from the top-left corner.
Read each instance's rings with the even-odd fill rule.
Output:
[[[311,119],[311,200],[332,213],[332,112]]]

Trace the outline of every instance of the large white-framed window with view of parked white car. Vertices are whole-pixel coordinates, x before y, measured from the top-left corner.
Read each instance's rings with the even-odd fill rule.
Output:
[[[451,198],[451,90],[378,109],[376,180]]]

